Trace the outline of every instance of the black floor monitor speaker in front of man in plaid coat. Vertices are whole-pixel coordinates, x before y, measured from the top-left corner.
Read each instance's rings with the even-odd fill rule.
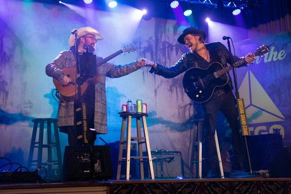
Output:
[[[65,146],[65,180],[112,179],[109,146]]]

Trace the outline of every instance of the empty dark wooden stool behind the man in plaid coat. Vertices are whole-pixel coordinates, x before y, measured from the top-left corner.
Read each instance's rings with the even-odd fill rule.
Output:
[[[32,119],[32,122],[34,124],[33,124],[33,130],[32,130],[32,141],[31,141],[29,157],[28,157],[28,162],[27,162],[28,169],[31,169],[32,165],[35,165],[36,168],[40,168],[43,165],[48,165],[48,172],[51,173],[52,165],[58,165],[59,177],[61,178],[63,174],[63,164],[62,164],[59,131],[58,131],[58,125],[57,125],[58,119],[36,118],[36,119]],[[47,123],[47,136],[48,136],[47,144],[43,143],[45,123]],[[38,124],[39,124],[39,137],[38,137],[38,142],[35,142]],[[51,135],[52,135],[51,124],[53,124],[53,129],[54,129],[54,136],[55,136],[54,142],[52,141],[52,138],[51,138]],[[52,147],[56,147],[57,160],[52,160]],[[37,160],[32,160],[34,148],[38,148]],[[43,148],[48,148],[48,162],[42,162]]]

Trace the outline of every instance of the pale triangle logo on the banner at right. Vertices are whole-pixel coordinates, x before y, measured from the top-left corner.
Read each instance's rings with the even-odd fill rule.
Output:
[[[251,71],[248,71],[239,88],[244,100],[245,112],[249,124],[283,121],[285,117],[260,85]]]

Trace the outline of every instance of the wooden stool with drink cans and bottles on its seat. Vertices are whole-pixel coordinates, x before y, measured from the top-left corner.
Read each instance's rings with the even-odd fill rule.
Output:
[[[121,126],[120,144],[119,144],[119,152],[118,152],[118,161],[117,161],[118,166],[117,166],[116,180],[120,179],[121,162],[123,161],[126,161],[126,179],[129,180],[130,159],[139,159],[141,179],[145,178],[143,160],[147,159],[149,163],[150,177],[151,179],[155,179],[149,140],[148,140],[147,127],[146,127],[147,113],[122,112],[119,114],[120,114],[120,117],[122,117],[122,126]],[[131,118],[136,119],[137,137],[131,137]],[[140,121],[141,118],[143,119],[144,137],[142,137],[142,132],[141,132],[141,121]],[[127,120],[127,139],[124,139],[126,120]],[[138,143],[138,156],[130,157],[130,142],[131,141],[137,141]],[[122,158],[123,144],[125,143],[126,143],[126,158]],[[143,156],[142,144],[146,144],[147,156]]]

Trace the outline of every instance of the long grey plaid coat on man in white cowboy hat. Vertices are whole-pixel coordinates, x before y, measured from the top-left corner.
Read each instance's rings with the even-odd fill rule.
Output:
[[[98,59],[97,59],[98,60]],[[62,80],[63,68],[76,66],[76,59],[71,50],[60,52],[59,56],[46,66],[46,74]],[[105,63],[98,68],[100,81],[95,84],[95,116],[94,125],[97,133],[107,133],[106,77],[119,78],[140,69],[137,61],[127,65]],[[58,112],[59,127],[74,125],[74,102],[61,101]]]

